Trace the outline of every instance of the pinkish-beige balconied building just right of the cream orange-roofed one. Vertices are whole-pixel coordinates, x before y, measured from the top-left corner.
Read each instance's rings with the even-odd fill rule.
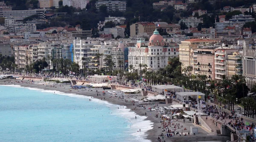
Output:
[[[194,75],[206,75],[208,79],[215,79],[215,47],[203,46],[194,51]]]

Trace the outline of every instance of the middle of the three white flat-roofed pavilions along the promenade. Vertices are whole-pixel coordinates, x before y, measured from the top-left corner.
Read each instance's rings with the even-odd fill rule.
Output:
[[[169,92],[182,92],[182,90],[183,90],[182,87],[178,87],[175,85],[154,85],[154,86],[152,86],[152,91],[159,93],[159,94],[163,94],[165,89]]]

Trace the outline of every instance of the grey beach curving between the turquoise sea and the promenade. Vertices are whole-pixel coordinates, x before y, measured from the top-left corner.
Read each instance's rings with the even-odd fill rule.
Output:
[[[148,130],[146,132],[146,139],[151,140],[151,142],[157,142],[158,140],[158,136],[163,133],[166,134],[166,132],[163,130],[163,128],[159,128],[161,127],[161,123],[160,123],[160,117],[156,118],[155,116],[155,111],[149,111],[148,108],[149,107],[153,107],[153,105],[147,105],[145,106],[146,109],[143,109],[142,107],[136,107],[133,105],[132,102],[130,102],[130,98],[127,98],[128,96],[124,96],[124,99],[128,100],[128,102],[123,101],[122,99],[118,99],[118,98],[110,98],[110,95],[108,95],[108,93],[105,96],[97,96],[97,92],[102,94],[102,91],[104,91],[102,88],[94,88],[93,91],[88,91],[88,90],[84,90],[84,91],[78,91],[78,90],[71,90],[70,84],[68,85],[55,85],[55,87],[50,87],[50,86],[46,86],[46,85],[42,85],[42,84],[29,84],[29,83],[16,83],[15,81],[20,81],[20,80],[1,80],[0,81],[0,85],[10,85],[10,84],[15,84],[15,85],[20,85],[22,87],[32,87],[32,88],[39,88],[39,89],[44,89],[44,90],[56,90],[56,91],[60,91],[60,92],[64,92],[64,93],[73,93],[73,94],[78,94],[78,95],[85,95],[85,96],[92,96],[93,98],[97,98],[97,99],[102,99],[104,101],[108,101],[112,104],[117,104],[117,105],[121,105],[121,106],[126,106],[128,109],[130,109],[130,111],[134,111],[137,114],[137,117],[140,116],[146,116],[147,119],[146,120],[150,120],[151,122],[154,123],[153,125],[153,129]],[[96,92],[97,90],[97,92]],[[105,91],[115,91],[115,90],[105,90]],[[137,99],[142,99],[142,96],[137,97]],[[158,104],[158,107],[160,106],[170,106],[170,104]],[[151,115],[150,115],[151,114]],[[135,118],[135,116],[134,116]],[[179,131],[179,133],[181,134],[181,132],[183,133],[182,136],[172,136],[172,137],[164,137],[164,140],[166,142],[196,142],[196,141],[214,141],[214,140],[219,140],[222,142],[225,142],[227,140],[230,140],[230,137],[227,136],[215,136],[214,133],[210,133],[207,132],[206,130],[204,130],[204,128],[202,128],[201,126],[198,126],[198,134],[193,136],[192,134],[188,135],[188,132],[190,131],[190,126],[196,126],[192,123],[188,123],[185,122],[183,123],[182,120],[180,121],[174,121],[174,123],[180,123],[180,125],[183,125],[183,128],[187,128],[187,130],[177,130]],[[170,130],[172,130],[172,128],[169,128]],[[184,136],[184,135],[187,136]],[[162,137],[161,137],[162,139]],[[163,142],[163,140],[162,140]]]

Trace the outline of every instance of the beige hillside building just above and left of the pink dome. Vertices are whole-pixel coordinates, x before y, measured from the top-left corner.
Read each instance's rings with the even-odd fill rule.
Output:
[[[137,22],[130,26],[131,37],[146,33],[147,35],[152,35],[155,31],[156,25],[150,22]]]

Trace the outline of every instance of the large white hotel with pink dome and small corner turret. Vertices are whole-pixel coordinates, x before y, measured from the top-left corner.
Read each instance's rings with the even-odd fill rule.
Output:
[[[135,47],[129,47],[128,64],[135,69],[139,69],[139,64],[147,64],[152,70],[164,68],[169,57],[178,55],[177,49],[165,45],[163,37],[156,30],[149,39],[149,46],[146,46],[144,39],[140,39]]]

